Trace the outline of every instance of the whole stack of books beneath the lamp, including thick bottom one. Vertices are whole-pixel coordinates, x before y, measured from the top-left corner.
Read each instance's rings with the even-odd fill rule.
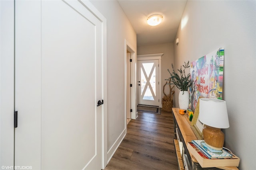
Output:
[[[202,168],[238,166],[240,159],[225,149],[214,150],[208,147],[204,140],[193,140],[187,146],[189,152],[196,158]]]

